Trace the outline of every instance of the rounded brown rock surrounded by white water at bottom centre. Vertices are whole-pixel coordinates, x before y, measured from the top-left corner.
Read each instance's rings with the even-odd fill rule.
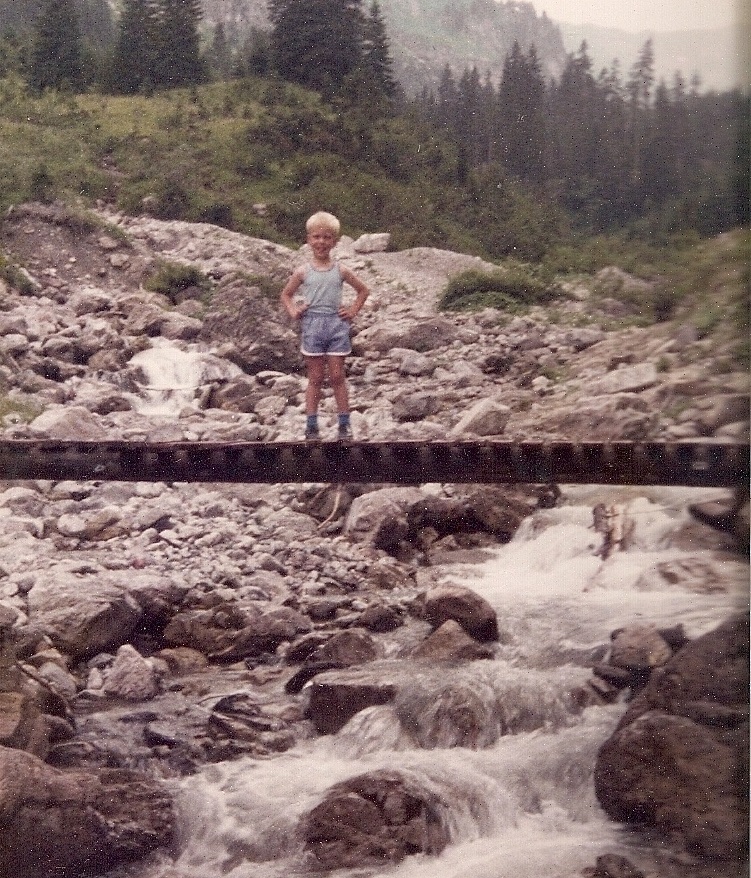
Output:
[[[303,820],[308,850],[321,867],[397,863],[439,854],[449,843],[448,803],[397,771],[374,771],[332,787]]]

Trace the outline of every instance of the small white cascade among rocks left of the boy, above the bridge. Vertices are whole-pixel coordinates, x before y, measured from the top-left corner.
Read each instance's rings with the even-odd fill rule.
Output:
[[[228,360],[194,346],[178,347],[162,338],[135,354],[129,365],[145,378],[139,392],[131,395],[133,408],[140,414],[157,416],[174,416],[185,407],[197,407],[203,387],[242,374]]]

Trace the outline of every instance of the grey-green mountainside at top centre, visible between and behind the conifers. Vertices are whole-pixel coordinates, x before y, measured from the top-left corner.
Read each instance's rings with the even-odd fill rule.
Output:
[[[224,24],[242,39],[252,27],[269,27],[266,0],[202,0],[204,23]],[[363,9],[369,8],[369,2]],[[477,66],[498,81],[514,40],[526,51],[534,43],[543,71],[558,75],[566,50],[558,27],[531,3],[496,0],[380,0],[397,78],[408,93],[435,87],[445,66],[461,75]]]

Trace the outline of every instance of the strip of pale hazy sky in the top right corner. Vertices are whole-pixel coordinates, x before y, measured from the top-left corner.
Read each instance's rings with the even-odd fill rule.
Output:
[[[746,0],[532,0],[554,21],[621,30],[689,30],[735,24]]]

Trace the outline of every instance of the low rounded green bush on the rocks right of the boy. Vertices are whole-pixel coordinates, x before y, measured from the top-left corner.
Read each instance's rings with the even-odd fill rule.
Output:
[[[531,305],[544,305],[563,295],[560,287],[529,266],[510,265],[495,272],[472,269],[450,278],[438,302],[444,311],[498,308],[519,313]]]

